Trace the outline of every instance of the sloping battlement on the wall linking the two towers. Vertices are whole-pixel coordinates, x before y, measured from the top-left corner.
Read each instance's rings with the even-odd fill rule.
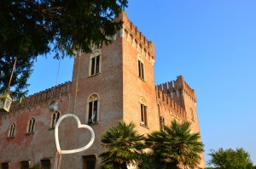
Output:
[[[167,93],[162,91],[159,87],[155,87],[155,93],[157,95],[157,99],[160,102],[164,102],[168,107],[170,107],[178,116],[183,119],[186,119],[186,110],[180,104],[172,99]]]

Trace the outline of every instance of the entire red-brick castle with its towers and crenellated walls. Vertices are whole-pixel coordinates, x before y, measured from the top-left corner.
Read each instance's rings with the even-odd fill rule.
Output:
[[[177,80],[155,86],[154,43],[120,14],[123,27],[109,37],[112,44],[96,48],[91,54],[74,59],[72,82],[35,93],[12,104],[9,113],[0,115],[0,165],[2,168],[28,168],[40,163],[53,168],[55,161],[55,123],[61,115],[77,115],[96,133],[94,144],[83,152],[62,155],[61,168],[100,167],[101,135],[120,120],[134,122],[139,133],[160,130],[173,119],[189,121],[199,132],[195,91]],[[49,111],[49,104],[58,110]],[[84,133],[85,132],[85,133]],[[89,132],[78,129],[73,119],[59,128],[61,149],[77,149],[88,143]],[[201,155],[202,157],[202,155]],[[204,168],[203,157],[201,166]]]

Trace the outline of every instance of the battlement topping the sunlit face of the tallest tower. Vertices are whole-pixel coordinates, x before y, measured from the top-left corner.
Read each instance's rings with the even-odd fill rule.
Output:
[[[147,37],[143,36],[143,33],[128,19],[125,12],[119,15],[119,20],[123,21],[120,37],[125,38],[127,42],[131,42],[131,46],[137,48],[137,51],[154,65],[154,42],[148,41]]]

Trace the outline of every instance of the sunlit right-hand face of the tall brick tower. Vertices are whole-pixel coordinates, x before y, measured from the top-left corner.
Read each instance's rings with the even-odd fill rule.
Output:
[[[154,43],[122,15],[123,98],[125,121],[133,121],[142,133],[159,130],[154,90]]]

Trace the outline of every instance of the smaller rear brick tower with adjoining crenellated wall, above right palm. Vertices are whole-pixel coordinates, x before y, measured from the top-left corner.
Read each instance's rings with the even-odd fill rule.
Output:
[[[183,76],[177,76],[175,81],[166,82],[156,87],[161,123],[165,121],[169,125],[172,119],[177,121],[189,121],[191,132],[200,132],[196,111],[195,90],[189,87]],[[170,121],[169,116],[172,116]],[[201,168],[205,167],[201,154]]]

